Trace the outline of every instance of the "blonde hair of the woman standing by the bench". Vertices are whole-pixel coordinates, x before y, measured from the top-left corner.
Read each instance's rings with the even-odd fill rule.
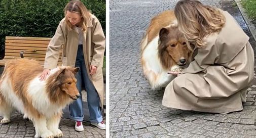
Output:
[[[67,19],[67,11],[72,13],[77,13],[82,15],[80,26],[82,28],[82,31],[85,32],[87,30],[86,21],[89,20],[90,12],[86,9],[85,5],[78,0],[70,1],[65,6],[64,12],[65,12],[65,24],[67,26],[68,30],[71,30],[75,25],[72,25],[68,19]]]

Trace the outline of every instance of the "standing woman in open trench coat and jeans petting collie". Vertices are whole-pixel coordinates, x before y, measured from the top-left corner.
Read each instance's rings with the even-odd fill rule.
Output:
[[[62,48],[64,66],[80,67],[76,75],[77,88],[82,91],[82,85],[87,91],[87,101],[90,112],[90,122],[100,129],[105,129],[102,121],[100,103],[103,103],[102,63],[105,50],[105,37],[100,22],[80,1],[70,1],[62,19],[52,37],[44,64],[41,80],[49,74],[50,69],[57,65],[59,51]],[[81,95],[82,96],[82,95]],[[70,118],[76,121],[75,129],[83,131],[82,97],[69,106]]]

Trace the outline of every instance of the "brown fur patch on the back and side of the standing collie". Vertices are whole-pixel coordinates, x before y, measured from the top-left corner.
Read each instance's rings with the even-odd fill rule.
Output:
[[[13,84],[14,93],[23,101],[25,110],[38,118],[41,117],[40,113],[32,107],[31,98],[27,96],[26,90],[29,82],[42,72],[43,67],[35,60],[31,60],[31,62],[27,60],[8,61],[3,72],[4,76],[8,73],[10,81]],[[4,76],[2,79],[4,79]]]

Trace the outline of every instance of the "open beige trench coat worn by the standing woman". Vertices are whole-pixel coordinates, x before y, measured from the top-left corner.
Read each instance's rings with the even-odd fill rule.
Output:
[[[93,82],[94,87],[100,97],[101,107],[103,104],[103,75],[102,65],[105,51],[105,36],[99,20],[90,15],[90,20],[86,22],[87,31],[83,34],[83,51],[88,77]],[[57,30],[52,37],[45,57],[44,68],[53,69],[57,66],[59,51],[62,49],[63,66],[75,67],[79,45],[79,32],[76,29],[68,30],[65,26],[65,19],[62,19]],[[94,65],[97,71],[94,75],[89,74],[89,66]]]

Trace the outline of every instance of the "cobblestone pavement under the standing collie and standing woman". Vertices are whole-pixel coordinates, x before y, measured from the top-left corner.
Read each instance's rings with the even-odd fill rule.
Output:
[[[1,117],[2,119],[2,117]],[[105,119],[104,119],[105,120]],[[63,138],[74,137],[105,137],[105,130],[101,130],[95,126],[90,125],[89,122],[84,121],[84,131],[77,132],[74,128],[75,122],[62,118],[59,128],[63,132]],[[8,124],[0,124],[0,137],[5,138],[32,138],[35,134],[33,123],[29,120],[23,119],[23,115],[16,112],[11,117],[11,122]]]

